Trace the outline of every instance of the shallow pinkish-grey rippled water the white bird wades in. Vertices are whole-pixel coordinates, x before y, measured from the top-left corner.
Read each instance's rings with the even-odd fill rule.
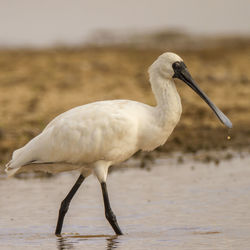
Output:
[[[119,237],[105,220],[94,177],[74,197],[62,237],[53,232],[75,173],[1,177],[0,249],[249,249],[250,156],[219,165],[174,158],[154,165],[108,178]]]

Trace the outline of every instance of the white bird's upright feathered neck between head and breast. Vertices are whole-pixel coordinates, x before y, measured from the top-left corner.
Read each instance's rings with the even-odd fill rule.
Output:
[[[174,80],[152,74],[150,83],[157,102],[155,113],[158,122],[161,126],[169,126],[169,123],[175,126],[180,119],[182,106]]]

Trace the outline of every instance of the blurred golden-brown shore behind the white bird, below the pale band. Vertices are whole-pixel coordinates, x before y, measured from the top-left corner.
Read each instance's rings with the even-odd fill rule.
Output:
[[[177,83],[183,115],[158,151],[248,149],[250,43],[177,50],[194,79],[233,122],[231,140],[207,105]],[[0,162],[37,135],[56,115],[105,99],[155,104],[147,68],[164,50],[126,47],[0,51]]]

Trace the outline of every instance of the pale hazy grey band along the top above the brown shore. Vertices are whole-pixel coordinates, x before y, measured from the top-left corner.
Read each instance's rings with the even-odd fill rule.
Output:
[[[249,0],[0,0],[0,46],[78,44],[96,30],[250,35]]]

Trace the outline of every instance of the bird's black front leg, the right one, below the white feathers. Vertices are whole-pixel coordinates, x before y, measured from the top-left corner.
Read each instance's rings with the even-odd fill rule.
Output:
[[[115,233],[117,235],[122,235],[122,231],[121,231],[120,227],[118,226],[118,223],[116,221],[116,217],[115,217],[115,215],[110,207],[106,182],[102,182],[101,186],[102,186],[102,195],[103,195],[106,219],[108,220],[108,222],[110,223],[110,225],[114,229]]]

